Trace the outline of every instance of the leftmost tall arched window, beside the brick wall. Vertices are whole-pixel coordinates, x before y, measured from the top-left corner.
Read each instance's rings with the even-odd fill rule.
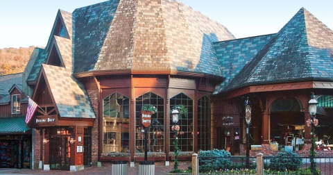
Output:
[[[129,152],[130,103],[114,92],[103,99],[103,153]]]

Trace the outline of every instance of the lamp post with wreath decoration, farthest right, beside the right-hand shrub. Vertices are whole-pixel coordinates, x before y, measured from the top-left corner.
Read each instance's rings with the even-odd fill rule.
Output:
[[[314,148],[316,147],[316,126],[318,125],[318,119],[316,119],[318,102],[314,97],[314,92],[311,92],[311,99],[308,103],[310,119],[307,120],[307,126],[311,126],[311,148],[309,152],[311,174],[316,174],[316,162],[314,161],[316,152],[314,151]]]

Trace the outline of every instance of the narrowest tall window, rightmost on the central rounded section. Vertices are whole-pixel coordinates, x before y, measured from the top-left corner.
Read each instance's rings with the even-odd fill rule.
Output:
[[[198,100],[198,149],[211,149],[211,108],[210,99],[203,96]]]

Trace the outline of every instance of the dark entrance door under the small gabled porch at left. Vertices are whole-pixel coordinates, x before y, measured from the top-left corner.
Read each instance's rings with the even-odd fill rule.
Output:
[[[70,132],[58,128],[56,135],[51,130],[50,136],[50,169],[69,170],[71,165]]]

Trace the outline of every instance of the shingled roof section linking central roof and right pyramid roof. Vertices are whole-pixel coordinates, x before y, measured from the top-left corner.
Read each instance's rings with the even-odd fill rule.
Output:
[[[264,47],[275,34],[261,35],[214,43],[216,56],[221,65],[222,76],[225,78],[216,85],[215,94],[221,92],[225,85],[236,76],[241,69]]]

